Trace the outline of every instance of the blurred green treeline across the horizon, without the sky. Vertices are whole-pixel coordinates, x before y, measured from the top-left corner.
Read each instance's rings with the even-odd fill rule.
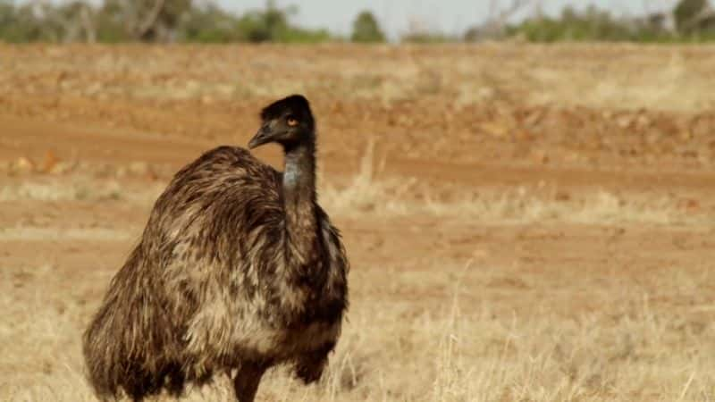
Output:
[[[492,2],[496,4],[496,2]],[[558,17],[534,13],[517,23],[510,13],[529,4],[515,0],[509,12],[496,13],[462,35],[413,26],[402,42],[439,43],[517,38],[534,42],[569,41],[702,41],[715,39],[715,11],[708,0],[680,0],[668,13],[618,17],[589,6],[567,6]],[[384,42],[373,13],[359,13],[349,37],[327,29],[308,29],[292,21],[296,6],[267,1],[262,9],[231,13],[212,0],[84,0],[16,3],[0,0],[0,41],[26,42]],[[407,17],[407,15],[406,15]]]

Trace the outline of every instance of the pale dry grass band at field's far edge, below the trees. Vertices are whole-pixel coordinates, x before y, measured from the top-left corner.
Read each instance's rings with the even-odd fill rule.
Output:
[[[331,93],[389,105],[450,94],[459,105],[517,96],[531,105],[694,111],[715,105],[709,46],[133,46],[0,48],[0,89],[99,100],[208,103]],[[308,63],[319,58],[321,63]],[[623,63],[612,63],[619,58]],[[56,63],[47,66],[47,61]],[[217,61],[220,61],[217,63]],[[32,65],[32,69],[28,69]],[[175,77],[177,65],[184,76]],[[139,67],[138,67],[139,66]],[[325,66],[330,66],[326,68]],[[37,71],[63,76],[37,80]],[[115,79],[121,76],[122,80]],[[525,91],[525,88],[538,90]]]

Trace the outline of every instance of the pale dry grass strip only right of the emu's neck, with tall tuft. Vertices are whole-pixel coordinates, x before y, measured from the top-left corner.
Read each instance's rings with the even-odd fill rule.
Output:
[[[606,189],[576,194],[558,188],[458,188],[453,196],[433,197],[434,188],[418,180],[379,178],[383,162],[374,161],[369,141],[357,174],[347,186],[328,183],[321,201],[329,211],[344,215],[433,215],[488,223],[574,222],[648,223],[711,226],[715,215],[678,207],[665,195],[618,195]],[[376,172],[377,171],[377,172]]]

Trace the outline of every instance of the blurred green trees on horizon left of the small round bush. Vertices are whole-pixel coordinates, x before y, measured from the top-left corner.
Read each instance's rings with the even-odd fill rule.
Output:
[[[283,42],[330,40],[325,29],[291,23],[294,6],[240,15],[216,0],[0,0],[5,42]]]

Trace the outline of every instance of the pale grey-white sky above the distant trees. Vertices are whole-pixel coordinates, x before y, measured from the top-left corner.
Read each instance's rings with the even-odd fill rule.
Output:
[[[265,0],[217,1],[227,10],[239,13],[265,6]],[[418,21],[429,29],[461,34],[489,16],[490,3],[490,0],[276,0],[280,7],[290,4],[298,6],[299,13],[294,21],[299,25],[327,28],[342,35],[349,34],[357,13],[370,10],[390,38],[398,38],[407,31],[410,21]],[[497,3],[506,7],[511,0],[499,0]],[[543,11],[550,14],[558,14],[568,4],[577,9],[595,4],[612,13],[638,15],[646,11],[671,10],[677,0],[542,0],[540,3]],[[533,11],[526,8],[522,14]]]

